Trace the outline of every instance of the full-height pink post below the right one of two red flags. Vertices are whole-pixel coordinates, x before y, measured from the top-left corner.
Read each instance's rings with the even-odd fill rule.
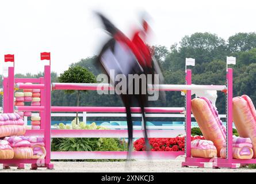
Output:
[[[44,66],[44,140],[45,163],[48,165],[51,162],[51,68]]]

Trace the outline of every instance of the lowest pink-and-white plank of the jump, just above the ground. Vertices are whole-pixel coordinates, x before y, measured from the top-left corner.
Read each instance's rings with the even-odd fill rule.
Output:
[[[133,151],[132,159],[175,159],[184,151]],[[52,151],[51,159],[127,159],[127,151]]]

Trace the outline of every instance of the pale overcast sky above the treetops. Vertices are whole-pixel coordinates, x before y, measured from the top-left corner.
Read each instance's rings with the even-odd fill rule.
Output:
[[[63,72],[73,62],[97,53],[106,34],[92,11],[100,10],[128,36],[146,10],[154,30],[150,44],[170,47],[185,35],[211,32],[227,39],[256,30],[256,1],[129,0],[129,1],[1,1],[0,63],[15,55],[16,73],[43,71],[51,52],[52,71]],[[2,67],[0,68],[2,74]]]

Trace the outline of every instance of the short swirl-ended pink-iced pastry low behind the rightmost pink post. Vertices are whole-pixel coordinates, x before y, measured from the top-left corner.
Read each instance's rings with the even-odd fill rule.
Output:
[[[232,152],[234,159],[251,159],[253,158],[253,144],[250,138],[233,136]],[[223,145],[220,151],[220,157],[226,158],[226,145]]]

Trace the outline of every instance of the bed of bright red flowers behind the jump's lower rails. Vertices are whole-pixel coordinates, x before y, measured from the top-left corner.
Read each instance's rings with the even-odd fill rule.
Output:
[[[204,139],[201,136],[191,136],[191,141],[195,139]],[[185,137],[175,138],[149,138],[151,151],[184,151]],[[145,139],[140,138],[134,141],[135,151],[145,151]]]

